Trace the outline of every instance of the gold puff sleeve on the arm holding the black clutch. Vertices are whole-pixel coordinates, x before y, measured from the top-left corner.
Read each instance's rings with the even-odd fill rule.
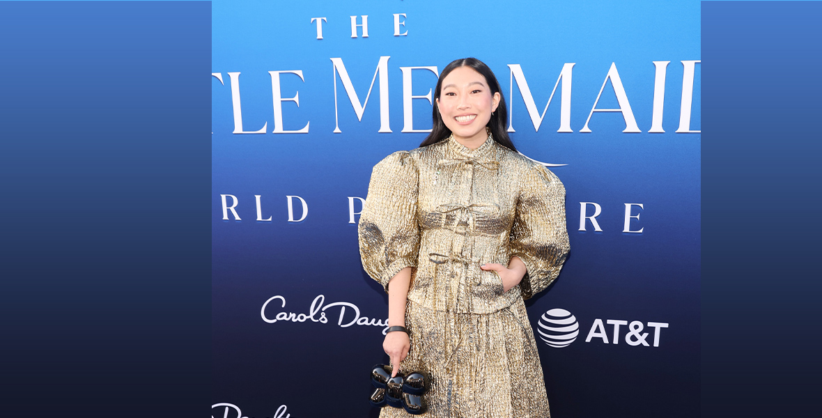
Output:
[[[408,151],[374,166],[358,224],[360,258],[369,276],[388,290],[404,267],[417,267],[418,170]]]

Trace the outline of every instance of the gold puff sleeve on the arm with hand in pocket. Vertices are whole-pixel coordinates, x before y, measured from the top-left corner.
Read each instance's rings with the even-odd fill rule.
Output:
[[[542,165],[530,163],[520,178],[520,196],[510,233],[511,256],[528,268],[520,281],[529,299],[559,276],[570,250],[566,229],[565,187]]]

